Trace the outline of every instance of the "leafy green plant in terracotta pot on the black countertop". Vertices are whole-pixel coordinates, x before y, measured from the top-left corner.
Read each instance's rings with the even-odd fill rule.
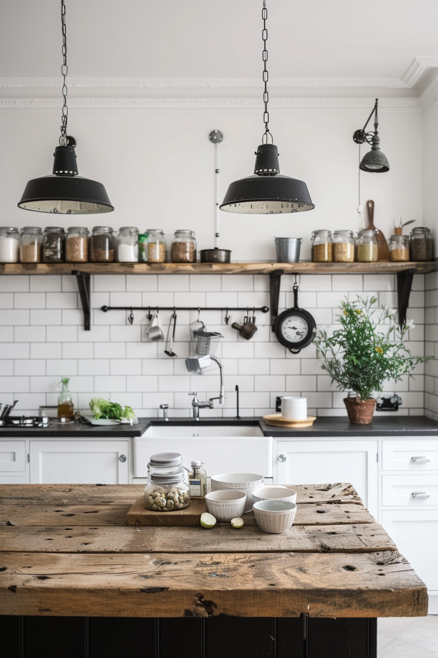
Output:
[[[373,308],[376,297],[341,302],[340,328],[331,336],[317,332],[315,344],[332,382],[341,391],[352,391],[344,398],[350,422],[371,422],[376,399],[373,392],[382,391],[383,382],[412,377],[418,363],[431,357],[413,357],[403,338],[414,325],[410,320],[401,328],[395,322],[395,311],[387,307]]]

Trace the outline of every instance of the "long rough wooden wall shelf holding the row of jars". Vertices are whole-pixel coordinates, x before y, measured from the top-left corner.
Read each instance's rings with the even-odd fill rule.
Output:
[[[5,263],[0,274],[420,274],[438,271],[436,261],[403,263]]]

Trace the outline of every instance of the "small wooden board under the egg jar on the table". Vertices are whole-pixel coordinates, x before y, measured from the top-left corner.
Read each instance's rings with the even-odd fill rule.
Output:
[[[198,526],[199,517],[207,511],[204,498],[191,498],[190,505],[175,512],[156,512],[144,507],[140,495],[126,515],[128,526]]]

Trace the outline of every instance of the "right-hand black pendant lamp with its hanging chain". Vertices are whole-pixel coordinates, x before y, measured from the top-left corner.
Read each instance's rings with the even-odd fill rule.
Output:
[[[268,51],[266,41],[268,31],[266,29],[267,9],[265,0],[263,0],[263,9],[261,17],[263,18],[263,82],[265,91],[263,93],[263,102],[265,103],[265,112],[263,113],[263,122],[265,123],[265,133],[263,134],[262,143],[255,151],[255,166],[253,176],[240,178],[229,185],[227,193],[220,205],[220,209],[229,213],[247,213],[252,215],[271,215],[274,213],[299,213],[305,210],[313,210],[315,204],[312,203],[307,186],[302,180],[290,178],[280,174],[278,166],[278,149],[273,143],[273,137],[269,132],[269,112],[267,91],[268,72],[266,63]],[[268,143],[268,138],[271,143]]]

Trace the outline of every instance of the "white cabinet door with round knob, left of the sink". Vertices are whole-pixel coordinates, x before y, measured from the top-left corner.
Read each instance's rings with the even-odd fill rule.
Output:
[[[128,484],[129,441],[30,441],[30,484]]]

